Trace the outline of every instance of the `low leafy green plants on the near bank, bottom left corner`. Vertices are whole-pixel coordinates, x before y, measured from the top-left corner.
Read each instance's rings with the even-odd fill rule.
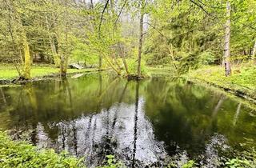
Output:
[[[77,159],[66,152],[56,154],[54,150],[37,150],[26,142],[13,142],[0,132],[1,167],[85,167],[83,158]]]

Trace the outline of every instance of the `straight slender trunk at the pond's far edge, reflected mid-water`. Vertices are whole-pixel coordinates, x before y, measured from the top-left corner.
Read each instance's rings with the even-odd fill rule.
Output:
[[[142,61],[142,40],[143,40],[143,20],[144,20],[144,0],[141,0],[141,16],[139,19],[139,42],[138,42],[138,78],[142,75],[141,61]]]

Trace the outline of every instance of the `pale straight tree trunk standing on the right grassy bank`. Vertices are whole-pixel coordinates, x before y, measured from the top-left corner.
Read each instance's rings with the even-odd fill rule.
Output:
[[[224,44],[224,66],[225,75],[230,76],[230,1],[226,1],[226,27],[225,27],[225,44]]]

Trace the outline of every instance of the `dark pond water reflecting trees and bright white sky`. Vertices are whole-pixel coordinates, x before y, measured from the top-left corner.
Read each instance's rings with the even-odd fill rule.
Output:
[[[127,82],[111,74],[0,88],[0,128],[32,130],[40,148],[85,156],[114,154],[126,166],[194,158],[215,167],[226,151],[256,146],[255,111],[217,90],[181,79]]]

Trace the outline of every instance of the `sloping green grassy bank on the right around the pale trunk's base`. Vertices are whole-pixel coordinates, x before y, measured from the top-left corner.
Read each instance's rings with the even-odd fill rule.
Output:
[[[222,66],[204,66],[186,75],[192,82],[206,82],[256,102],[256,67],[250,64],[233,66],[233,74],[225,76]]]

